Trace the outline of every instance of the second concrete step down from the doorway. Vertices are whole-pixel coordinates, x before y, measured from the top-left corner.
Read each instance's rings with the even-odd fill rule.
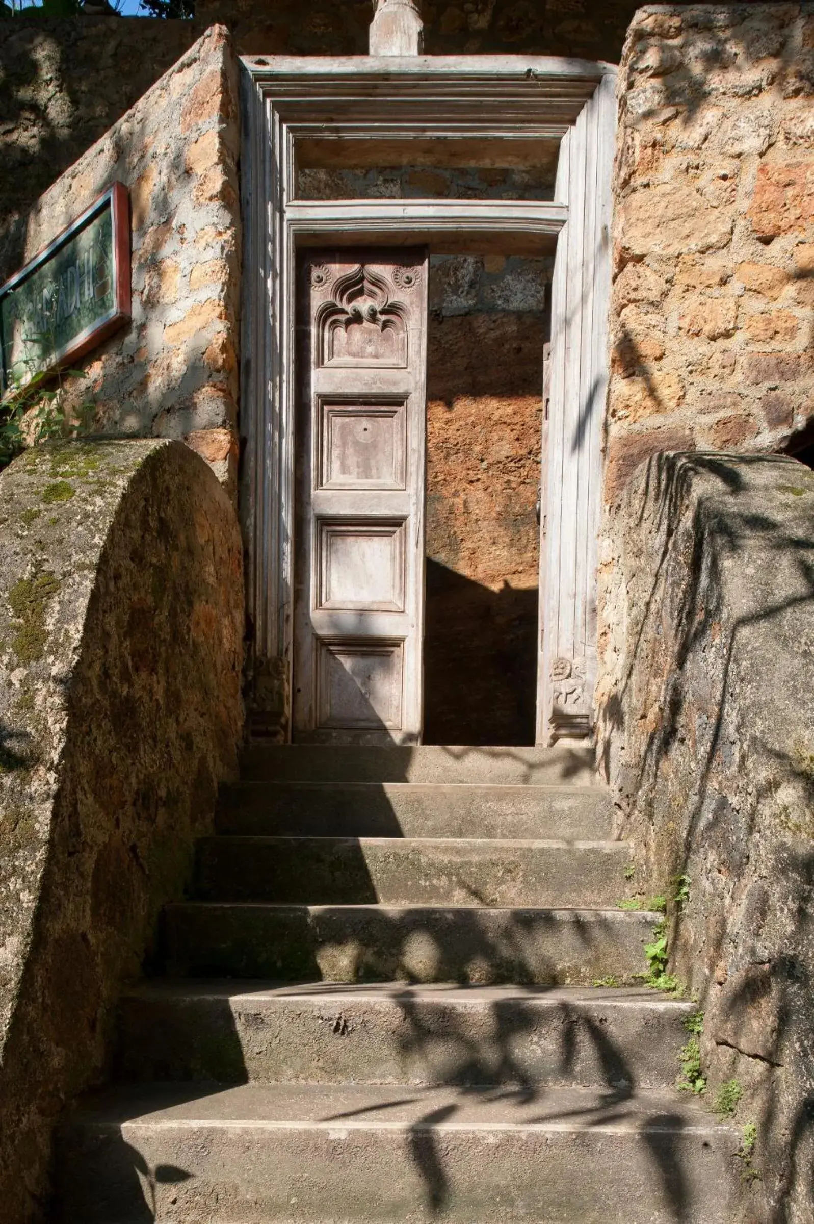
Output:
[[[307,837],[558,837],[611,835],[601,786],[476,782],[245,782],[220,797],[224,834]]]

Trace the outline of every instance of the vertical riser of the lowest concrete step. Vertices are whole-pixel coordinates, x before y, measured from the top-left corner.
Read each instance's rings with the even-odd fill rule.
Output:
[[[60,1144],[64,1224],[732,1224],[734,1132],[88,1126]],[[138,1175],[163,1166],[158,1177]],[[146,1189],[142,1190],[142,1181]],[[153,1182],[152,1190],[148,1182]],[[154,1195],[154,1215],[146,1195]]]

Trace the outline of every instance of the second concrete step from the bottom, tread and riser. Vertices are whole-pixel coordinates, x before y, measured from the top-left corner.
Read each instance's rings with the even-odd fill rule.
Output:
[[[644,988],[153,982],[122,1000],[120,1075],[659,1088],[693,1011]]]

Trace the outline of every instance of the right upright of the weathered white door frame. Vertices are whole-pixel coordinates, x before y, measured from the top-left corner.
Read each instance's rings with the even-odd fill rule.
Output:
[[[588,736],[594,723],[614,133],[613,80],[605,77],[563,140],[554,192],[568,204],[568,222],[557,244],[552,288],[550,466],[540,550],[541,744]]]

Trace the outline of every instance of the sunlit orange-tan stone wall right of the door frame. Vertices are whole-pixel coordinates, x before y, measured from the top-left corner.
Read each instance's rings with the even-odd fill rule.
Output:
[[[600,704],[637,465],[776,450],[814,416],[814,5],[650,5],[618,88]]]

